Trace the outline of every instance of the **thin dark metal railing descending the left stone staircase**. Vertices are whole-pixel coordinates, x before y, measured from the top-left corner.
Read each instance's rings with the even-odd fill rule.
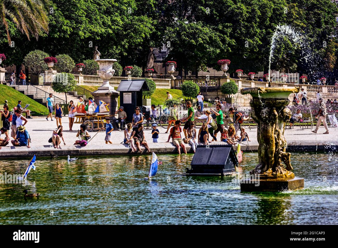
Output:
[[[7,80],[7,79],[6,79]],[[25,91],[25,95],[34,95],[34,99],[37,98],[42,98],[42,102],[45,103],[46,99],[49,97],[49,92],[44,91],[38,87],[35,87],[34,85],[25,82],[25,85],[22,85],[22,81],[20,78],[15,77],[15,83],[17,84],[12,84],[9,86],[15,86],[16,90],[20,91],[20,90],[24,90]],[[60,103],[60,104],[66,104],[65,100],[62,100],[61,98],[58,98],[56,96],[53,95],[54,101],[55,103]]]

